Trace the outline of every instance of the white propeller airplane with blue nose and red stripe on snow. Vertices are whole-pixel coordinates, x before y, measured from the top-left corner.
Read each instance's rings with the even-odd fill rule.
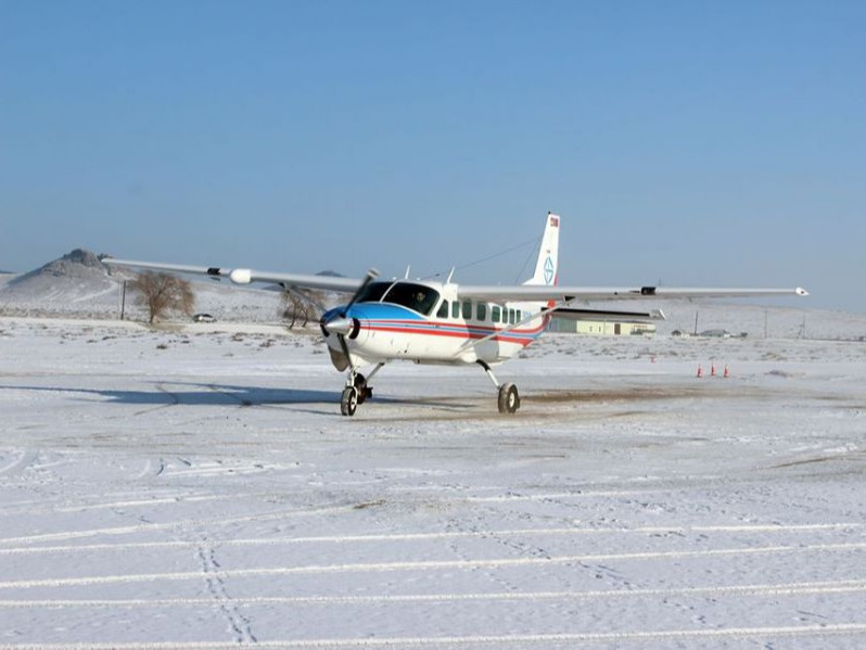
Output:
[[[228,278],[235,284],[268,282],[289,291],[324,290],[351,294],[319,322],[331,362],[346,372],[340,400],[343,416],[354,416],[372,396],[370,380],[389,362],[480,366],[497,390],[500,413],[514,413],[521,399],[512,382],[500,383],[493,367],[535,342],[550,319],[663,319],[648,313],[582,308],[590,301],[755,297],[808,295],[797,289],[700,289],[667,286],[562,286],[559,272],[559,215],[548,213],[535,272],[523,284],[467,285],[430,280],[379,280],[375,269],[360,279],[257,271],[249,268],[198,267],[105,258],[115,266]],[[371,367],[367,375],[361,369]]]

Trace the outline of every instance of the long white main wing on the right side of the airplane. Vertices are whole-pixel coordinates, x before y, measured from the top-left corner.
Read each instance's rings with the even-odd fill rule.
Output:
[[[505,302],[527,301],[575,303],[591,301],[640,301],[640,299],[688,299],[688,298],[741,298],[760,296],[808,295],[805,289],[704,289],[672,286],[559,286],[514,284],[460,285],[458,296],[476,301]]]

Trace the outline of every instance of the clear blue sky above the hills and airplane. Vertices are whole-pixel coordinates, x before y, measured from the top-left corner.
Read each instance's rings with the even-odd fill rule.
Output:
[[[0,0],[0,268],[425,275],[556,211],[562,282],[866,311],[865,34],[863,1]]]

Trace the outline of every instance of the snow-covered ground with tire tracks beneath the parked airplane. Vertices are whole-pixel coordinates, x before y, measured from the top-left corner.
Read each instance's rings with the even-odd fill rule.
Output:
[[[866,647],[866,343],[215,329],[0,318],[0,648]]]

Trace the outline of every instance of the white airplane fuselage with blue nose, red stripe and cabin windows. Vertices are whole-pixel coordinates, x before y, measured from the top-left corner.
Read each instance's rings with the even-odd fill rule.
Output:
[[[354,365],[404,359],[416,364],[500,364],[533,343],[549,317],[543,303],[460,299],[457,284],[374,282],[355,304],[322,316],[322,334],[338,369],[346,361],[329,322],[345,318],[344,339]]]

